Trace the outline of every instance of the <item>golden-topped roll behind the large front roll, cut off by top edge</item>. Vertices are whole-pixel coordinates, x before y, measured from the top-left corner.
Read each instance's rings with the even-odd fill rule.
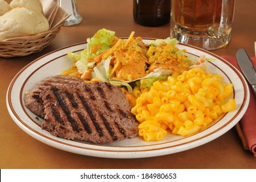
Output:
[[[43,13],[42,4],[39,0],[12,0],[12,2],[10,2],[10,7],[24,7],[30,10],[35,10],[40,13]]]

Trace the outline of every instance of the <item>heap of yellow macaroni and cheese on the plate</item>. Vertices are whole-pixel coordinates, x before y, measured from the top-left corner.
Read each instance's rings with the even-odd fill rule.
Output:
[[[236,109],[232,84],[221,82],[219,74],[192,68],[174,72],[167,81],[155,81],[150,90],[133,90],[136,104],[131,109],[140,122],[138,135],[144,140],[161,140],[167,131],[192,135],[225,112]]]

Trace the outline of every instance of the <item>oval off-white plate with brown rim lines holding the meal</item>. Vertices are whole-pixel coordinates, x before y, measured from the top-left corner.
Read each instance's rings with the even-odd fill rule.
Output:
[[[148,42],[150,39],[144,40]],[[198,147],[223,135],[242,118],[249,104],[249,89],[246,80],[234,66],[213,53],[193,47],[191,45],[178,44],[180,49],[186,49],[188,53],[199,57],[205,55],[208,59],[207,72],[219,73],[227,83],[232,83],[234,92],[231,98],[237,103],[237,109],[215,120],[203,131],[191,136],[178,136],[168,134],[164,140],[158,142],[145,142],[142,138],[121,140],[112,144],[91,144],[78,140],[66,140],[51,135],[40,128],[42,119],[35,116],[24,106],[24,93],[31,90],[39,81],[51,75],[58,75],[73,62],[67,59],[68,52],[82,51],[86,43],[80,43],[63,47],[48,53],[39,59],[27,64],[12,80],[7,91],[7,108],[10,116],[16,124],[28,135],[40,142],[54,148],[62,149],[81,155],[106,158],[143,158],[167,155]]]

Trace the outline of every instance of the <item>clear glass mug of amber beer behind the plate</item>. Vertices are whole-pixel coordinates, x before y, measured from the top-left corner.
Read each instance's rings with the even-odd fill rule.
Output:
[[[184,44],[219,49],[229,43],[235,0],[172,0],[170,36]]]

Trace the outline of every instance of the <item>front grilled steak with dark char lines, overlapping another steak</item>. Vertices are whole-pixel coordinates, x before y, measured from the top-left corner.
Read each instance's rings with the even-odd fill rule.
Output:
[[[83,81],[63,83],[63,77],[58,78],[62,84],[47,86],[39,94],[44,108],[42,129],[61,138],[93,143],[137,136],[138,122],[118,87]]]

